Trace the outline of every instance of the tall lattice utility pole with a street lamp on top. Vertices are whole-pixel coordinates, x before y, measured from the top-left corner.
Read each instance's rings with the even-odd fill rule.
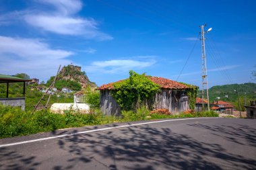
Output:
[[[206,26],[206,24],[205,24],[205,26]],[[206,85],[207,108],[208,108],[208,112],[210,112],[204,34],[207,33],[207,32],[210,32],[212,30],[212,28],[209,28],[207,31],[204,31],[203,28],[205,26],[200,26],[200,28],[201,28],[201,32],[200,32],[200,34],[201,34],[201,58],[202,58],[202,100],[204,99],[204,86]],[[203,105],[203,108],[204,108],[204,105]]]

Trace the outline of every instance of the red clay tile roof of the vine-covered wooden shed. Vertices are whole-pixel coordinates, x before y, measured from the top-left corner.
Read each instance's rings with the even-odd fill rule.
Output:
[[[191,87],[188,87],[187,85],[183,85],[182,83],[179,83],[177,81],[172,81],[170,79],[165,79],[162,77],[148,77],[152,82],[160,85],[162,89],[190,89]],[[123,81],[123,80],[121,80]],[[120,82],[120,81],[117,81]],[[116,83],[116,82],[115,82]],[[113,89],[113,83],[108,83],[106,85],[100,86],[98,89],[104,90],[104,89]]]

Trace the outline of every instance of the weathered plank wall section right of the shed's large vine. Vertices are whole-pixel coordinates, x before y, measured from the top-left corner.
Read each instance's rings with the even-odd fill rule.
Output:
[[[189,109],[189,98],[186,91],[162,89],[156,93],[154,109],[168,109],[175,114]]]

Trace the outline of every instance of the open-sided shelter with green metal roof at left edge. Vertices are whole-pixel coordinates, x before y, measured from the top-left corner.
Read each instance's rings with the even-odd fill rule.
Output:
[[[20,77],[13,77],[9,75],[0,74],[0,83],[6,83],[6,98],[0,98],[0,102],[4,105],[21,106],[22,110],[25,109],[25,86],[30,79],[22,79]],[[9,83],[23,82],[23,97],[9,98]]]

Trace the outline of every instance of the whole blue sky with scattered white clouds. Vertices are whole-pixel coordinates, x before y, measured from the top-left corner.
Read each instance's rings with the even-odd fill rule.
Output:
[[[201,87],[199,26],[207,24],[209,86],[255,82],[255,9],[253,0],[2,0],[0,73],[46,81],[73,63],[97,85],[132,69]]]

